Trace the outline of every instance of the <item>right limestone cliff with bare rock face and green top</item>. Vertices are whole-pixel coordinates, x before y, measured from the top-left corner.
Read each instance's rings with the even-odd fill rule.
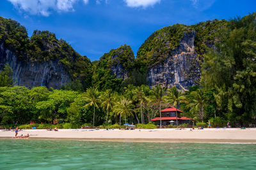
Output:
[[[147,73],[150,87],[176,86],[188,90],[200,80],[200,62],[208,48],[215,48],[218,31],[227,21],[212,20],[196,25],[175,24],[150,35],[137,53],[136,62]]]

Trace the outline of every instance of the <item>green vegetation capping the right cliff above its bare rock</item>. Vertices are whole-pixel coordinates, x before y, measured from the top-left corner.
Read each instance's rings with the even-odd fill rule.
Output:
[[[191,31],[195,31],[195,50],[202,59],[207,48],[212,48],[214,43],[220,41],[219,33],[225,29],[226,20],[209,20],[196,25],[175,24],[163,27],[151,34],[140,46],[137,53],[136,64],[141,71],[148,67],[164,62],[172,55],[172,51],[180,45],[180,39]]]

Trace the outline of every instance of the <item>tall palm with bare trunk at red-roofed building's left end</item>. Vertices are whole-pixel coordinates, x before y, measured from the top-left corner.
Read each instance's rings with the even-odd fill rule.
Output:
[[[156,85],[151,90],[152,98],[159,104],[159,112],[160,112],[160,128],[162,128],[162,114],[161,114],[161,103],[163,101],[163,96],[166,88],[162,88],[161,85]]]

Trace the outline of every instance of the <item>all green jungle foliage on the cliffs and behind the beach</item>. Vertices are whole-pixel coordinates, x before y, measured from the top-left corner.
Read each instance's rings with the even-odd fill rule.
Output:
[[[84,124],[122,125],[125,123],[140,124],[142,127],[143,124],[148,124],[150,119],[159,117],[161,114],[159,110],[168,106],[177,106],[184,111],[180,116],[194,118],[200,126],[205,126],[207,121],[211,121],[215,127],[223,127],[227,125],[227,122],[230,122],[232,127],[255,126],[255,18],[256,13],[253,13],[228,22],[213,20],[191,26],[176,24],[154,32],[138,51],[138,59],[134,59],[131,47],[124,45],[105,53],[100,61],[95,61],[93,64],[90,60],[88,62],[84,60],[84,64],[88,64],[84,67],[90,67],[90,69],[88,68],[89,71],[86,70],[88,71],[85,71],[86,73],[83,73],[83,69],[79,71],[84,74],[84,77],[87,73],[93,74],[92,86],[86,87],[86,90],[74,90],[79,89],[74,88],[78,84],[75,81],[61,90],[46,87],[33,87],[32,89],[13,87],[13,82],[10,81],[12,70],[6,66],[0,73],[0,80],[4,80],[4,83],[0,83],[1,125],[14,126],[28,124],[30,121],[35,121],[37,124],[53,123],[63,120],[65,127],[67,125],[79,127]],[[1,27],[4,25],[2,20]],[[29,51],[24,49],[30,49],[26,46],[28,42],[40,48],[40,43],[38,43],[40,40],[36,40],[38,36],[36,32],[33,35],[34,38],[29,39],[26,29],[20,25],[14,27],[15,24],[17,22],[10,20],[10,24],[4,25],[6,30],[0,29],[1,42],[17,50],[20,57],[26,58],[29,56]],[[10,27],[17,31],[10,32],[9,30],[8,32]],[[138,77],[144,78],[148,67],[157,62],[163,62],[164,57],[179,46],[180,38],[184,36],[184,33],[189,31],[196,32],[196,52],[202,60],[200,85],[189,87],[189,90],[184,92],[177,90],[176,87],[165,89],[160,85],[150,89],[145,85],[147,82],[144,80],[136,84],[140,79]],[[39,35],[41,34],[42,39],[55,38],[49,32],[41,32]],[[46,44],[51,46],[54,43],[56,42],[52,40]],[[69,49],[70,46],[66,47]],[[40,50],[44,52],[44,49],[40,48]],[[66,49],[65,52],[67,51]],[[38,58],[32,57],[31,59],[53,59],[50,54],[49,56],[48,53],[40,55],[39,52]],[[65,55],[54,56],[59,60],[65,59]],[[74,56],[67,57],[67,63],[76,63]],[[73,62],[70,61],[72,59]],[[77,64],[81,64],[80,67],[83,68],[83,62],[80,61],[77,60]],[[65,63],[64,60],[61,62]],[[111,74],[111,67],[118,64],[129,74],[129,82],[125,85],[126,80],[123,81],[122,78],[116,78]],[[139,72],[136,74],[134,70]],[[84,80],[83,76],[82,80]]]

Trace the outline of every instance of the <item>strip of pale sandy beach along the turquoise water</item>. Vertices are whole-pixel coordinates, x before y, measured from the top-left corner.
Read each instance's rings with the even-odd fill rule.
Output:
[[[29,129],[18,135],[29,134],[30,139],[79,139],[87,141],[132,141],[132,142],[195,142],[195,143],[256,143],[256,128],[251,129]],[[0,138],[12,138],[13,131],[0,131]]]

